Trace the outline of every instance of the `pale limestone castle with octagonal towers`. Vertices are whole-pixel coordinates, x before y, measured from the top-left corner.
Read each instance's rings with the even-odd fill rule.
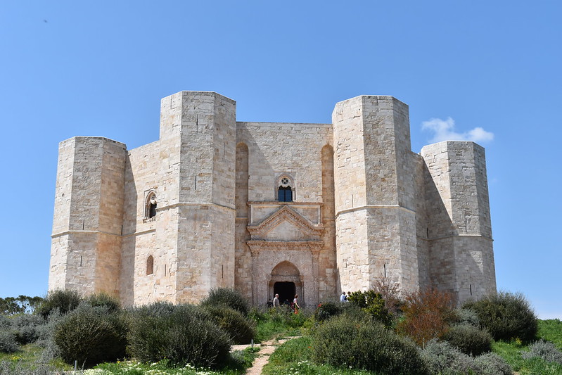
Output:
[[[496,290],[484,149],[412,152],[392,96],[298,124],[236,122],[235,101],[181,91],[161,101],[158,141],[60,143],[50,290],[142,305],[226,286],[310,306],[381,279],[456,303]]]

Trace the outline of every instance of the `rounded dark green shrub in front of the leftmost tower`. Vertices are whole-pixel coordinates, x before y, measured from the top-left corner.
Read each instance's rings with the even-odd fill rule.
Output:
[[[122,314],[107,307],[79,305],[56,324],[53,342],[67,363],[90,367],[125,355],[127,325]]]

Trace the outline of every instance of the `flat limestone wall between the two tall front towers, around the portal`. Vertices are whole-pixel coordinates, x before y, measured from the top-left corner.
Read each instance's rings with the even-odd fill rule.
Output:
[[[264,304],[268,297],[273,298],[273,295],[267,295],[272,293],[269,291],[267,277],[271,277],[270,273],[276,267],[278,258],[296,257],[294,266],[302,277],[307,278],[308,283],[304,284],[305,289],[302,291],[306,291],[306,297],[301,295],[301,303],[310,305],[317,303],[318,298],[334,298],[337,274],[333,223],[331,125],[237,122],[236,141],[241,158],[245,158],[238,160],[238,165],[243,163],[248,165],[248,172],[243,172],[238,177],[236,189],[241,191],[240,195],[251,203],[249,211],[243,201],[239,201],[236,205],[238,217],[236,287],[241,288],[248,298],[253,298],[255,303]],[[328,148],[325,148],[326,146]],[[329,160],[326,161],[326,155],[323,159],[323,152],[328,153]],[[245,243],[250,239],[245,225],[262,222],[270,215],[274,215],[274,212],[281,207],[276,203],[281,176],[290,178],[290,186],[293,189],[293,202],[288,205],[312,224],[320,224],[324,227],[321,236],[324,246],[317,250],[316,258],[309,258],[312,257],[311,250],[306,249],[298,250],[304,252],[298,256],[297,253],[291,253],[294,250],[278,250],[275,256],[267,252],[259,255],[256,253],[253,259],[250,248]],[[319,205],[309,203],[319,203]],[[272,229],[269,237],[282,241],[308,239],[306,234],[298,231],[288,222]],[[256,262],[254,266],[253,262]],[[255,267],[260,267],[260,281],[252,279],[252,274],[256,275],[255,272],[258,272],[253,269]],[[309,274],[313,269],[316,273]],[[314,288],[311,283],[314,284]],[[253,295],[253,291],[260,294]]]

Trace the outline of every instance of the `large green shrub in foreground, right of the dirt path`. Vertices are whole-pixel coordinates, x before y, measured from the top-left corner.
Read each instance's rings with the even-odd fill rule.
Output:
[[[416,346],[373,319],[338,315],[314,333],[314,360],[377,374],[426,374]]]

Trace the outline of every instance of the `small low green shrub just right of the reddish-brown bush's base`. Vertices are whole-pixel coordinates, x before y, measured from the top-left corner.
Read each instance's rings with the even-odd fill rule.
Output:
[[[445,333],[443,339],[461,350],[461,352],[464,352],[464,354],[480,355],[492,350],[492,336],[490,336],[490,333],[467,324],[452,326]]]

